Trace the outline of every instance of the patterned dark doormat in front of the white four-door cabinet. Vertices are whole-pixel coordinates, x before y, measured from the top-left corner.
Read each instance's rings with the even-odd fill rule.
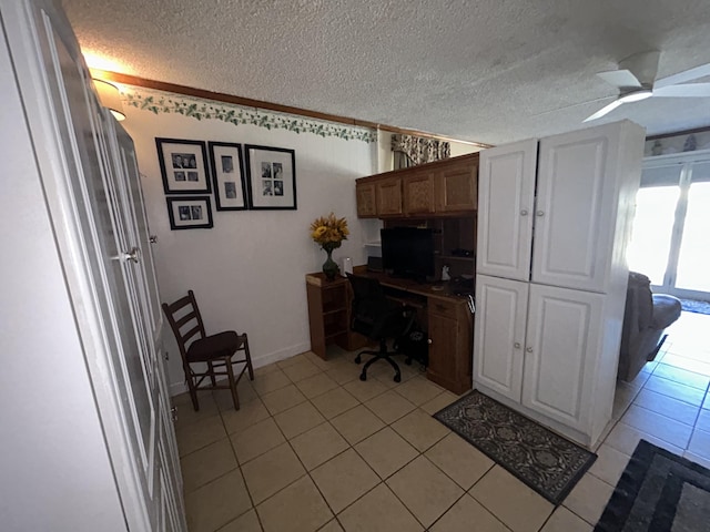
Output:
[[[478,390],[434,417],[552,504],[565,500],[597,459]]]

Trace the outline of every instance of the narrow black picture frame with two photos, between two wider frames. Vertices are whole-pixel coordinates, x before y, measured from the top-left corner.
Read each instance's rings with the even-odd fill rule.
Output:
[[[246,182],[242,162],[242,145],[229,142],[209,142],[210,166],[217,211],[244,211]]]

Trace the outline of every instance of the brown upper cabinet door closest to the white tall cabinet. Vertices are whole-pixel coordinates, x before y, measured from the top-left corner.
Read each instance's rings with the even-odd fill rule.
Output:
[[[478,208],[478,160],[452,161],[436,175],[436,211],[440,213]]]

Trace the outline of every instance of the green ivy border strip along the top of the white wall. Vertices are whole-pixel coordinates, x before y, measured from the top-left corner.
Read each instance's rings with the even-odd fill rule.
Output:
[[[377,132],[367,127],[336,125],[321,120],[229,103],[217,103],[211,100],[182,96],[130,85],[124,85],[122,92],[123,103],[154,114],[182,114],[195,120],[220,120],[233,125],[256,125],[267,130],[286,130],[298,134],[312,133],[323,137],[334,136],[345,141],[367,143],[377,141]]]

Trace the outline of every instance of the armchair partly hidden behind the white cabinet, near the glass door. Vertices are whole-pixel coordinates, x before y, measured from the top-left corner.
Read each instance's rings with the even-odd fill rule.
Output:
[[[629,272],[619,351],[619,379],[633,380],[646,362],[656,358],[668,336],[663,331],[680,317],[680,310],[678,298],[652,294],[651,282],[647,276]]]

